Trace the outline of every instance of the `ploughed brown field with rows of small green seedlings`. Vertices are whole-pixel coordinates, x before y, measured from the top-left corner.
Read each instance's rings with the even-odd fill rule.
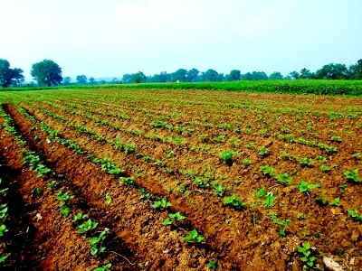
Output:
[[[362,269],[361,98],[115,87],[0,101],[0,266]]]

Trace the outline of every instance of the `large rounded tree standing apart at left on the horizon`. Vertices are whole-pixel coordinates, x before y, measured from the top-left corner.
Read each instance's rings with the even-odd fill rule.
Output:
[[[62,68],[54,61],[34,63],[30,74],[40,86],[59,85],[62,82]]]

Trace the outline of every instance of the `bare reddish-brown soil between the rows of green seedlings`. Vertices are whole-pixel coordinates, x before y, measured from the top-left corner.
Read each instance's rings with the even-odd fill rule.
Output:
[[[275,113],[271,111],[244,112],[243,109],[233,107],[226,107],[222,112],[211,107],[210,105],[213,105],[211,101],[189,106],[183,104],[182,107],[190,110],[186,109],[186,114],[180,114],[175,118],[168,117],[167,124],[193,127],[194,133],[179,135],[185,138],[185,143],[176,145],[151,138],[150,135],[154,133],[161,137],[176,133],[154,128],[150,126],[150,122],[173,116],[175,112],[180,113],[181,106],[176,106],[171,101],[178,98],[179,101],[186,102],[186,98],[190,96],[186,96],[182,91],[176,91],[173,98],[166,98],[164,91],[155,91],[154,94],[157,99],[164,98],[164,104],[157,104],[156,100],[145,98],[140,93],[138,93],[141,98],[138,98],[140,101],[137,109],[131,109],[136,104],[125,100],[122,103],[119,101],[118,106],[105,111],[102,109],[103,106],[95,103],[89,104],[88,108],[79,106],[81,102],[77,104],[79,107],[77,105],[70,107],[69,104],[76,98],[87,105],[88,101],[79,97],[52,101],[53,107],[44,101],[22,103],[27,112],[38,121],[56,129],[61,137],[77,143],[88,154],[109,157],[119,167],[126,168],[127,175],[135,177],[135,187],[119,184],[112,175],[101,171],[100,166],[93,164],[86,155],[74,154],[55,141],[47,143],[49,135],[46,135],[37,124],[21,115],[13,105],[5,106],[6,112],[14,118],[16,128],[24,136],[29,147],[40,154],[43,161],[58,174],[56,179],[62,187],[76,195],[77,200],[72,203],[74,210],[88,213],[92,219],[100,222],[100,229],[110,229],[106,244],[109,251],[117,252],[117,254],[106,253],[100,257],[90,257],[88,239],[77,233],[71,220],[62,217],[54,193],[46,190],[47,180],[36,178],[36,173],[25,170],[27,167],[22,163],[20,147],[15,144],[14,138],[5,134],[3,130],[2,136],[8,138],[7,141],[2,140],[0,144],[5,166],[11,168],[16,175],[11,179],[19,180],[17,182],[21,183],[12,188],[11,194],[18,193],[24,201],[22,206],[32,209],[28,216],[29,211],[25,211],[25,207],[20,208],[21,210],[12,216],[20,217],[22,223],[31,224],[34,229],[34,234],[30,237],[31,244],[24,241],[22,248],[14,246],[11,248],[17,251],[12,253],[13,257],[21,255],[24,263],[32,262],[32,268],[43,269],[92,270],[111,262],[112,270],[207,270],[206,264],[214,259],[217,261],[218,270],[255,270],[256,268],[300,270],[302,263],[297,249],[309,241],[321,253],[333,257],[346,268],[359,270],[362,267],[362,226],[348,217],[348,210],[360,208],[362,192],[359,184],[346,182],[343,176],[347,170],[354,168],[362,170],[360,160],[351,158],[351,154],[357,153],[360,145],[357,128],[360,117],[357,119],[341,117],[333,121],[327,114],[315,115],[313,112],[311,115],[303,114],[300,117],[295,111],[284,112],[280,117],[275,117]],[[201,98],[201,94],[193,92],[194,98],[197,96]],[[213,102],[225,104],[231,102],[231,98],[236,99],[234,94],[228,98],[223,95],[215,92]],[[97,98],[96,95],[94,97]],[[300,99],[299,106],[295,106],[297,103],[291,102],[291,98]],[[259,101],[255,101],[256,99]],[[345,98],[302,99],[294,96],[258,94],[244,97],[243,101],[239,101],[240,104],[245,103],[245,100],[252,101],[249,104],[263,103],[262,106],[267,104],[269,107],[275,107],[282,102],[291,108],[313,108],[314,104],[323,103],[319,110],[325,112],[329,112],[333,104],[344,107],[348,105],[348,99]],[[355,106],[360,107],[360,100],[349,101],[354,101]],[[106,104],[100,99],[100,104],[102,102],[103,105]],[[157,105],[157,109],[148,108],[151,107],[149,104]],[[42,108],[62,115],[68,123],[48,116],[41,110]],[[71,110],[75,110],[74,113],[71,113]],[[148,117],[142,115],[145,111],[149,112]],[[131,119],[120,120],[111,114],[106,114],[107,112],[112,112],[113,115],[127,113]],[[124,129],[101,124],[97,119],[87,117],[90,113]],[[190,124],[195,117],[198,117],[198,122]],[[235,129],[235,121],[241,123],[239,129]],[[309,131],[311,121],[314,124]],[[272,126],[269,126],[268,122],[271,122]],[[233,124],[233,129],[220,129],[217,127],[220,123]],[[294,126],[296,123],[299,126]],[[208,126],[205,126],[206,124]],[[84,126],[101,135],[102,139],[83,133],[76,126]],[[252,127],[251,134],[243,132],[245,126]],[[271,135],[272,132],[282,134],[281,128],[285,126],[289,126],[288,134],[294,135],[295,139],[302,136],[307,140],[336,145],[338,152],[327,154],[315,146],[289,143]],[[266,135],[259,134],[262,128],[268,130]],[[138,129],[143,133],[135,135],[131,133],[131,129]],[[306,133],[302,134],[302,131]],[[348,133],[345,133],[346,131]],[[318,132],[318,139],[312,135],[312,132]],[[225,135],[225,138],[219,144],[212,141],[203,142],[198,137],[202,134],[207,134],[209,139],[218,135]],[[342,142],[331,141],[331,135],[342,135]],[[123,143],[132,138],[132,143],[137,146],[136,151],[126,154],[107,143],[107,140],[115,140],[118,136],[122,137]],[[237,139],[236,145],[228,143],[231,138]],[[253,147],[244,146],[251,142],[254,143]],[[194,146],[199,150],[195,150]],[[260,146],[267,146],[270,154],[266,157],[259,155]],[[206,149],[207,151],[201,151]],[[219,153],[225,149],[238,152],[233,158],[232,165],[224,164],[219,158]],[[166,154],[169,150],[174,154],[167,159]],[[282,159],[281,151],[288,152],[294,158]],[[153,157],[153,160],[139,158],[136,154],[142,154],[143,157],[148,155]],[[326,156],[328,160],[318,161],[316,157],[321,155]],[[18,158],[9,161],[6,157]],[[303,166],[296,162],[296,158],[300,157],[311,157],[315,163],[310,167]],[[242,161],[245,158],[251,158],[252,164],[244,165]],[[157,160],[165,161],[166,165],[160,166],[156,163]],[[18,164],[11,165],[14,161]],[[277,173],[291,173],[293,176],[291,185],[281,185],[275,179],[263,175],[259,169],[261,165],[266,164],[272,166]],[[329,165],[332,170],[329,173],[322,173],[319,170],[321,164]],[[167,172],[167,167],[173,172]],[[236,194],[246,202],[247,208],[234,210],[224,206],[224,197],[214,195],[211,187],[206,189],[196,187],[194,178],[190,177],[187,171],[195,172],[200,177],[212,173],[213,182],[219,182],[226,188],[225,195]],[[27,175],[23,176],[23,172]],[[320,188],[309,194],[301,193],[298,188],[301,180],[308,180],[310,183],[319,182]],[[183,184],[188,185],[189,194],[177,192]],[[342,184],[348,185],[345,192],[339,189]],[[42,188],[44,191],[42,197],[33,199],[30,196],[34,186]],[[139,188],[145,188],[159,197],[167,196],[167,200],[172,203],[172,210],[186,215],[186,222],[181,224],[182,227],[162,226],[162,221],[167,218],[167,211],[154,210],[150,207],[150,201],[141,200]],[[265,188],[276,196],[277,200],[270,209],[265,208],[261,204],[261,199],[255,196],[260,188]],[[106,192],[112,199],[110,204],[104,201]],[[316,196],[323,196],[329,202],[338,197],[339,205],[336,207],[328,204],[319,205],[314,200]],[[28,205],[31,207],[27,207]],[[271,213],[277,214],[281,220],[292,220],[286,229],[286,237],[281,237],[279,234],[281,226],[272,222]],[[298,220],[298,214],[304,214],[306,219]],[[14,220],[13,217],[10,219]],[[39,217],[42,219],[39,220]],[[15,230],[21,227],[14,225]],[[187,244],[182,240],[182,237],[186,236],[183,229],[185,231],[197,229],[205,236],[205,241],[195,246]],[[10,249],[11,243],[6,246]],[[133,266],[129,262],[136,264]],[[318,258],[318,263],[323,266],[321,257]],[[19,264],[19,267],[22,265],[25,264]]]

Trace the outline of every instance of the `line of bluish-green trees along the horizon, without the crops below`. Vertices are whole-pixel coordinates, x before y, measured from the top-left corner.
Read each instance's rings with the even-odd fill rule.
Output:
[[[21,87],[24,86],[24,71],[19,68],[10,68],[9,61],[0,59],[0,86]],[[71,77],[62,78],[62,68],[54,61],[44,60],[32,65],[31,75],[39,86],[56,86],[73,84]],[[197,69],[178,69],[175,72],[160,72],[152,76],[146,76],[142,71],[134,74],[124,74],[121,80],[113,79],[109,83],[153,83],[153,82],[201,82],[201,81],[237,81],[237,80],[266,80],[266,79],[362,79],[362,59],[356,64],[347,67],[345,64],[330,63],[324,65],[316,72],[306,68],[300,71],[293,70],[283,76],[281,72],[274,71],[269,76],[264,71],[252,71],[242,73],[241,70],[231,70],[229,74],[219,73],[209,69],[199,71]],[[96,81],[84,74],[76,77],[78,84],[105,84],[105,80]],[[28,85],[29,86],[29,85]]]

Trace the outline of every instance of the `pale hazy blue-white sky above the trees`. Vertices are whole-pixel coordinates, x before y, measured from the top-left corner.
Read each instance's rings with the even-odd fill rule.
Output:
[[[0,0],[0,59],[75,79],[179,68],[318,70],[362,59],[362,0]]]

